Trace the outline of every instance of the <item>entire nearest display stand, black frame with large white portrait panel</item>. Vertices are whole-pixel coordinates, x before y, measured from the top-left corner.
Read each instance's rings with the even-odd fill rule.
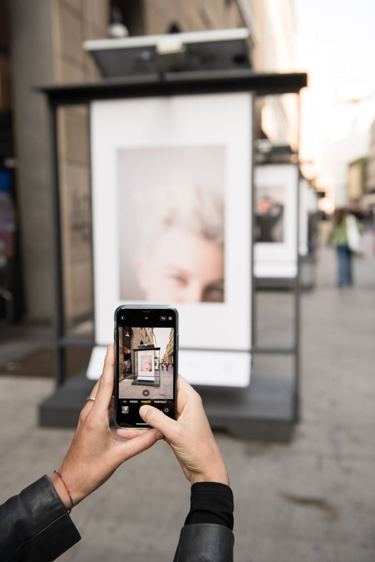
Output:
[[[199,387],[212,427],[244,437],[291,438],[299,400],[297,371],[288,381],[253,375],[250,380],[252,357],[262,352],[254,345],[252,306],[253,111],[256,96],[298,93],[305,85],[305,74],[223,71],[43,89],[52,147],[57,388],[40,405],[42,425],[76,423],[91,379],[101,373],[105,345],[112,341],[116,306],[125,301],[165,302],[164,295],[151,294],[148,282],[156,280],[165,257],[186,260],[190,249],[192,256],[210,263],[207,270],[215,275],[205,277],[198,292],[185,298],[176,292],[173,300],[168,299],[180,312],[180,372]],[[87,105],[91,114],[95,306],[94,338],[85,341],[67,334],[64,325],[57,145],[58,107],[79,104]],[[166,204],[156,211],[155,201],[170,203],[174,198],[182,215]],[[197,226],[201,215],[216,217],[214,226]],[[195,242],[201,243],[203,231],[209,231],[209,236],[204,235],[206,253],[192,250],[192,242],[187,241],[182,226],[191,223],[197,228]],[[177,252],[166,249],[168,239],[178,241]],[[186,288],[188,262],[179,267],[169,277]],[[165,273],[165,266],[160,269]],[[80,345],[93,347],[87,373],[66,380],[66,348]],[[298,342],[296,354],[297,348]],[[134,364],[139,362],[134,358],[139,348],[130,349],[131,353]],[[141,371],[137,376],[153,378],[156,386],[160,359],[158,365],[154,355],[151,370]]]

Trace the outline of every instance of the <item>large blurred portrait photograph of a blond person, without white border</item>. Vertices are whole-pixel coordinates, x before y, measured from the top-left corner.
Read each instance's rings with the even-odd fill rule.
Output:
[[[117,156],[120,300],[224,302],[225,147]]]

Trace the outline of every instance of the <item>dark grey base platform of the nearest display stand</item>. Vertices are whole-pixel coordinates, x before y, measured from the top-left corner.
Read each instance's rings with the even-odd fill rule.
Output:
[[[84,372],[67,380],[39,406],[42,427],[75,427],[93,387]],[[198,387],[211,427],[235,437],[287,442],[293,433],[290,380],[251,377],[247,388]]]

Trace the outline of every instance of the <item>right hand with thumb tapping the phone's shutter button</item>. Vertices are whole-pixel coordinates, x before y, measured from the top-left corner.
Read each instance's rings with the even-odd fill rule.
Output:
[[[142,406],[139,414],[146,423],[164,434],[191,484],[221,482],[229,486],[227,468],[211,432],[201,397],[182,377],[179,377],[177,410],[177,421],[153,406]],[[126,437],[126,429],[118,429],[117,433],[119,437]]]

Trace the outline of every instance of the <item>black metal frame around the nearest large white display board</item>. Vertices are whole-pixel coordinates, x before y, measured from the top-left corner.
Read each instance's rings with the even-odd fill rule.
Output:
[[[39,88],[39,92],[47,97],[48,102],[48,116],[49,116],[49,146],[51,147],[51,189],[52,189],[52,204],[53,204],[53,244],[54,244],[54,271],[55,271],[55,379],[57,390],[55,395],[47,399],[40,405],[40,422],[42,425],[70,425],[74,424],[78,419],[78,411],[74,411],[71,415],[67,416],[64,413],[60,414],[56,411],[53,415],[53,408],[57,408],[57,403],[60,398],[56,397],[60,392],[62,401],[64,396],[70,396],[70,409],[73,408],[73,403],[81,404],[78,396],[74,395],[74,388],[81,389],[82,394],[87,392],[91,387],[91,381],[81,379],[81,383],[72,383],[69,392],[66,389],[64,394],[65,384],[65,370],[66,370],[66,348],[72,346],[93,346],[94,340],[66,337],[64,332],[64,283],[63,283],[63,268],[62,268],[62,238],[61,238],[61,209],[60,209],[60,185],[58,174],[58,146],[57,146],[57,109],[61,106],[72,105],[89,105],[90,102],[99,99],[120,99],[120,98],[133,98],[133,97],[152,97],[152,96],[178,96],[183,94],[214,94],[214,93],[231,93],[231,92],[249,92],[255,96],[264,96],[271,94],[285,94],[296,93],[299,94],[300,89],[304,88],[307,84],[307,75],[301,73],[289,74],[255,74],[251,70],[243,71],[212,71],[212,72],[180,72],[168,73],[163,75],[147,75],[137,76],[136,78],[126,79],[106,79],[98,83],[92,84],[73,84],[73,85],[52,85],[48,87]],[[253,105],[254,111],[254,105]],[[255,127],[255,120],[253,119],[253,126]],[[254,146],[252,148],[254,156]],[[253,160],[254,162],[254,160]],[[254,174],[254,166],[252,170]],[[254,200],[254,190],[252,190],[251,197]],[[254,202],[254,201],[253,201]],[[254,205],[252,206],[254,212]],[[297,205],[298,209],[298,205]],[[297,222],[298,225],[298,222]],[[254,229],[251,229],[251,248],[254,248]],[[297,237],[298,239],[298,237]],[[251,257],[251,277],[252,283],[254,279],[254,251],[252,249]],[[256,347],[254,341],[255,330],[252,330],[251,351],[254,353],[291,353],[296,355],[295,366],[295,381],[293,384],[293,414],[288,417],[287,414],[282,415],[282,422],[277,422],[272,425],[272,418],[263,416],[261,406],[259,406],[259,399],[257,397],[264,396],[264,390],[255,390],[250,396],[244,389],[223,389],[224,394],[220,394],[220,389],[214,387],[206,389],[200,387],[201,395],[206,398],[205,402],[207,414],[211,424],[214,427],[227,428],[238,436],[269,438],[287,441],[291,436],[290,424],[295,422],[299,417],[299,386],[300,386],[300,370],[299,370],[299,324],[300,324],[300,290],[299,290],[299,263],[297,264],[297,278],[295,290],[295,309],[296,309],[296,341],[292,349],[279,349],[279,348],[260,348]],[[252,285],[251,303],[254,305],[254,288]],[[254,309],[253,309],[254,310]],[[255,326],[255,312],[251,318],[252,327]],[[68,381],[69,383],[69,381]],[[75,385],[75,386],[74,386]],[[242,395],[238,395],[238,392]],[[283,394],[283,389],[279,389]],[[67,400],[67,398],[66,398]],[[210,416],[210,406],[212,404],[212,415]],[[241,411],[243,416],[247,416],[249,408],[254,407],[256,410],[254,415],[250,418],[254,421],[253,430],[249,428],[244,429],[241,422]],[[221,408],[222,414],[217,414]],[[237,409],[235,412],[235,419],[232,419],[232,410]],[[242,409],[239,413],[238,409]],[[232,417],[231,417],[232,416]],[[244,419],[245,419],[244,418]],[[249,419],[250,419],[249,418]],[[264,418],[264,421],[263,421]],[[68,419],[66,421],[66,419]],[[247,419],[247,418],[246,418]],[[246,425],[246,424],[245,424]]]

